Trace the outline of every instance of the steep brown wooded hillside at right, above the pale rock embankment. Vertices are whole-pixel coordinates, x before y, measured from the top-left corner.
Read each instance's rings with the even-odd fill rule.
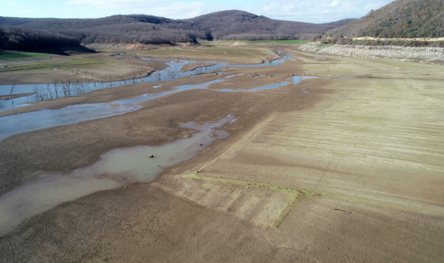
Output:
[[[443,0],[397,0],[344,27],[330,37],[444,37]]]

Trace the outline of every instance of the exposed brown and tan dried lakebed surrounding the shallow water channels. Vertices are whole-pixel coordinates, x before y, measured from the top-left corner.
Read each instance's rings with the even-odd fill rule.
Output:
[[[233,74],[239,75],[208,89],[292,82],[292,74],[322,77],[254,92],[181,91],[129,114],[2,140],[4,193],[43,174],[87,167],[111,149],[163,145],[195,132],[180,123],[239,118],[221,128],[229,138],[154,183],[97,192],[28,219],[0,237],[2,259],[442,262],[442,69],[315,61],[285,48],[295,59],[281,66],[181,78],[159,89],[152,86],[160,82],[112,87],[3,114],[113,102]]]

